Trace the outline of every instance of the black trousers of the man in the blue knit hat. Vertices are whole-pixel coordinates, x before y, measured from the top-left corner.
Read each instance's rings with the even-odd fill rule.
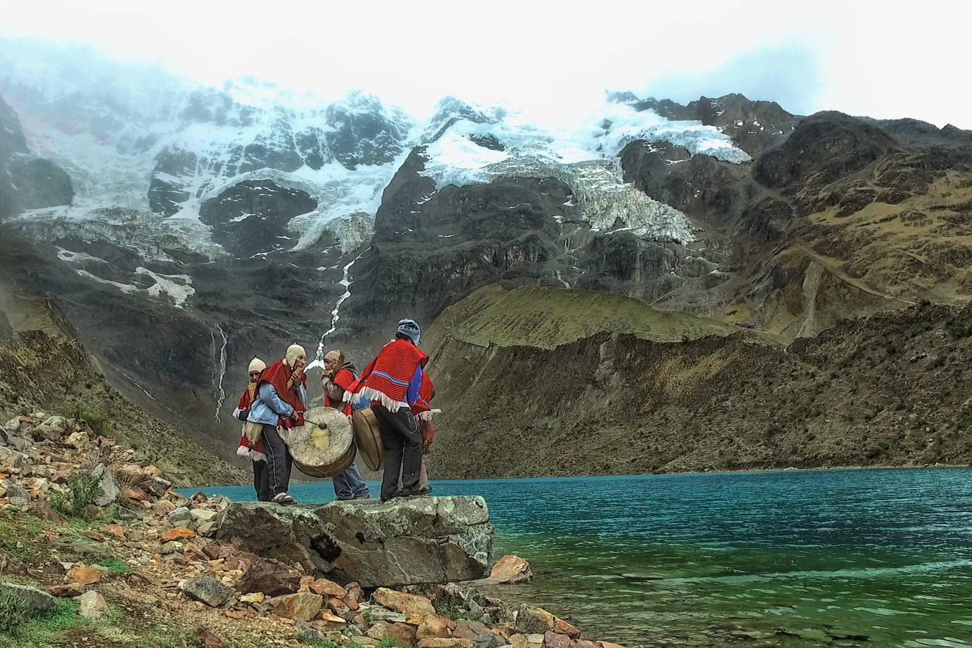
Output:
[[[372,405],[371,411],[378,421],[381,442],[385,446],[381,498],[388,499],[399,489],[399,473],[402,489],[418,486],[422,468],[422,434],[418,421],[407,407],[390,412],[383,405]]]

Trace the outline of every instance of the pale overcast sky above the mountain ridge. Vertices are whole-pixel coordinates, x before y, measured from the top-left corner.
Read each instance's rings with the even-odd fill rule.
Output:
[[[87,44],[208,85],[254,75],[335,98],[365,87],[420,118],[454,94],[570,121],[609,88],[972,128],[970,6],[32,0],[4,7],[0,36]]]

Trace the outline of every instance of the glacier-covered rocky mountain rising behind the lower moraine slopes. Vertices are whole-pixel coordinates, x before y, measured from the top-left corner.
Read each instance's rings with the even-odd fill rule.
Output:
[[[5,290],[50,295],[127,395],[226,457],[253,356],[296,341],[364,363],[400,317],[431,324],[497,282],[783,342],[969,298],[972,136],[955,127],[630,92],[573,129],[455,97],[416,123],[364,91],[132,92],[127,69],[102,87],[19,62],[0,47]]]

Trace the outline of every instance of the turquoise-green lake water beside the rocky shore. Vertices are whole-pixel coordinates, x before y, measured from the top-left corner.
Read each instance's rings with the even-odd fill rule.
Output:
[[[542,605],[586,638],[645,646],[972,648],[972,470],[433,486],[434,495],[485,497],[497,558],[512,553],[533,563],[532,584],[491,594]],[[255,499],[250,487],[202,490]],[[330,482],[295,485],[291,493],[301,503],[333,498]]]

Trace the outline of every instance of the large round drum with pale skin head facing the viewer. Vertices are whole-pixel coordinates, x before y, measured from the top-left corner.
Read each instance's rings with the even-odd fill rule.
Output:
[[[330,407],[304,412],[304,425],[287,435],[297,469],[309,477],[333,477],[348,469],[357,454],[348,417]]]

